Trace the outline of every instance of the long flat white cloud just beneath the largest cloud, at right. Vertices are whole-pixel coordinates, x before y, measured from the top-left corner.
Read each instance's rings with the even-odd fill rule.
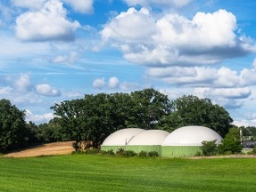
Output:
[[[246,87],[256,83],[254,68],[244,68],[240,74],[231,68],[169,67],[148,68],[146,75],[168,84],[215,88]]]

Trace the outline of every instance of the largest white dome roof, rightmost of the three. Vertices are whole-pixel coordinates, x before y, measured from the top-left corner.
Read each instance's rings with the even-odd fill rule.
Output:
[[[218,140],[222,137],[204,126],[185,126],[171,133],[162,142],[162,146],[202,146],[203,140]]]

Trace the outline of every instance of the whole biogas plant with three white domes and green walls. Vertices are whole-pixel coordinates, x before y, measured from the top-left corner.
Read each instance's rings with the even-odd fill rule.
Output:
[[[221,143],[219,133],[204,126],[184,126],[173,132],[144,130],[140,128],[121,129],[111,133],[101,146],[102,150],[120,148],[140,151],[156,151],[163,157],[194,156],[201,152],[202,141],[216,140]]]

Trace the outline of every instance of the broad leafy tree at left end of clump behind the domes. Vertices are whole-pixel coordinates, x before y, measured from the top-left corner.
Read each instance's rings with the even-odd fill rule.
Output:
[[[110,95],[105,93],[87,94],[80,100],[65,100],[52,109],[59,117],[63,136],[75,140],[76,146],[81,141],[90,140],[97,147],[116,127],[112,116],[117,108],[111,106]]]

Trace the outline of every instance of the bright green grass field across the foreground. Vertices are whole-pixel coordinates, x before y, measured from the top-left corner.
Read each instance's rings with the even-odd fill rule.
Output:
[[[0,191],[255,191],[256,159],[0,158]]]

